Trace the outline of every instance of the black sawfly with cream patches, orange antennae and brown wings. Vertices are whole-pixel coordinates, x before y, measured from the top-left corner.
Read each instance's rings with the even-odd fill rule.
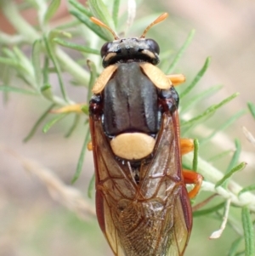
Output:
[[[180,139],[178,93],[183,75],[156,67],[160,48],[141,37],[114,37],[101,48],[104,71],[94,84],[89,124],[99,226],[116,256],[181,256],[192,228],[190,198],[201,175],[182,168],[193,150]],[[187,191],[186,184],[195,184]]]

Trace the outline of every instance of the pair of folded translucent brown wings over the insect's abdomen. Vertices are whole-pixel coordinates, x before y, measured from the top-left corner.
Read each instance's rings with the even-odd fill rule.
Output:
[[[90,119],[99,225],[117,256],[184,253],[192,218],[175,113],[163,115],[154,156],[141,162],[139,183],[133,178],[135,170],[116,160],[100,120]]]

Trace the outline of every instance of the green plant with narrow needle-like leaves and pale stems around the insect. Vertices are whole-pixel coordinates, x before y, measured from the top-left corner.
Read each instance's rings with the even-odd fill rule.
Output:
[[[5,0],[0,3],[3,13],[7,16],[8,20],[11,20],[18,31],[15,36],[8,36],[3,32],[0,33],[0,64],[2,65],[3,70],[0,90],[3,91],[4,101],[8,100],[10,93],[18,93],[20,94],[20,97],[22,94],[31,94],[37,96],[38,100],[47,102],[48,107],[37,119],[37,122],[35,122],[34,126],[31,128],[30,133],[26,135],[26,138],[24,139],[26,142],[32,138],[37,129],[42,128],[42,131],[47,133],[50,128],[57,125],[57,122],[68,116],[72,116],[73,121],[65,134],[66,137],[74,134],[79,125],[82,125],[82,128],[85,125],[86,130],[84,129],[82,150],[77,160],[77,171],[72,179],[74,182],[81,174],[84,154],[89,141],[87,121],[88,105],[86,104],[91,96],[90,88],[93,86],[100,71],[102,71],[99,48],[105,40],[111,40],[111,35],[109,35],[108,31],[101,29],[99,26],[95,26],[91,23],[89,17],[92,15],[98,17],[99,20],[105,22],[105,24],[110,26],[114,31],[126,31],[129,28],[125,27],[126,23],[124,21],[128,20],[130,25],[134,20],[134,12],[132,11],[132,8],[130,8],[129,12],[126,12],[121,16],[119,14],[120,1],[108,1],[110,6],[107,8],[105,3],[101,0],[88,1],[88,7],[84,7],[82,4],[77,3],[77,1],[70,0],[70,13],[73,15],[74,19],[52,28],[49,22],[59,8],[60,2],[61,1],[53,0],[49,6],[46,1],[27,1],[23,5],[16,5],[13,2]],[[130,1],[130,3],[133,2]],[[26,23],[20,16],[20,9],[26,9],[28,6],[31,6],[37,12],[37,28]],[[111,9],[111,12],[109,9]],[[157,14],[153,14],[153,16],[156,17]],[[144,19],[135,20],[133,27],[144,28],[151,20],[153,20],[151,15]],[[152,33],[153,30],[151,31],[151,34]],[[154,33],[156,40],[163,44],[165,36],[160,32],[156,33],[156,31],[154,31]],[[78,36],[82,37],[82,40],[84,40],[85,43],[82,43],[82,45],[74,43]],[[191,31],[178,53],[170,54],[173,59],[170,64],[169,52],[161,53],[160,67],[162,71],[169,73],[176,70],[178,60],[184,54],[184,50],[190,44],[193,36],[194,31]],[[31,57],[28,57],[27,54],[24,53],[24,45],[31,47]],[[61,48],[60,46],[64,48]],[[71,55],[66,54],[65,48],[75,49],[81,55],[77,60],[73,60]],[[201,77],[204,76],[209,64],[210,58],[207,58],[205,64],[202,66],[201,70],[197,72],[190,84],[178,88],[181,100],[180,122],[182,136],[190,137],[191,128],[194,129],[198,126],[205,127],[204,122],[206,122],[209,117],[212,117],[216,111],[221,110],[221,107],[229,103],[230,100],[235,99],[237,96],[237,94],[232,94],[227,99],[219,100],[217,104],[209,106],[201,113],[193,114],[191,112],[190,114],[190,109],[193,108],[194,105],[201,105],[201,102],[206,100],[207,97],[212,94],[217,93],[221,88],[221,86],[213,86],[212,88],[195,94],[192,96],[192,99],[189,99],[191,90],[195,90],[195,86],[200,81]],[[64,82],[63,73],[68,73],[70,75],[70,81]],[[13,74],[15,74],[15,76],[13,76]],[[57,77],[57,86],[53,84],[52,76]],[[15,77],[15,79],[13,79],[13,77]],[[67,93],[66,89],[67,87],[77,88],[78,86],[82,87],[82,90],[88,91],[87,99],[84,100],[83,106],[83,111],[87,113],[87,116],[77,112],[55,114],[50,112],[59,109],[60,107],[78,103],[71,99],[71,96]],[[206,148],[210,139],[212,139],[215,134],[228,128],[229,125],[245,113],[246,110],[241,110],[233,117],[229,117],[229,119],[219,125],[218,128],[214,128],[212,134],[207,135],[207,137],[195,134],[195,136],[199,137],[200,145]],[[184,118],[187,114],[192,115],[188,121]],[[50,117],[49,120],[48,117]],[[81,124],[82,121],[83,123]],[[207,221],[210,221],[210,219],[213,218],[228,219],[229,226],[235,230],[237,241],[233,241],[233,246],[229,249],[229,255],[239,255],[240,253],[237,252],[241,251],[244,255],[250,256],[255,254],[251,215],[251,212],[253,213],[255,210],[255,196],[250,192],[254,190],[254,186],[252,185],[243,189],[240,185],[230,179],[236,171],[241,171],[246,165],[246,163],[240,162],[239,160],[241,145],[238,140],[235,141],[235,146],[235,153],[229,162],[229,167],[225,174],[218,170],[218,168],[213,168],[211,162],[215,163],[227,154],[231,154],[229,151],[219,151],[217,154],[208,152],[208,156],[212,158],[211,161],[206,161],[197,156],[198,145],[196,144],[195,153],[184,156],[183,164],[185,168],[192,168],[204,176],[205,181],[202,185],[201,197],[204,197],[204,199],[207,200],[207,195],[218,195],[218,202],[215,202],[215,198],[213,198],[210,202],[210,206],[204,207],[206,209],[202,208],[194,212],[195,218],[207,215],[210,217]],[[92,190],[93,189],[89,190],[90,195],[92,194]],[[203,196],[203,191],[208,192],[207,194],[204,194],[206,196]],[[234,208],[234,213],[231,211],[229,212],[229,208]],[[241,219],[238,219],[235,212],[240,210]],[[220,229],[221,231],[224,230],[225,224],[225,221],[223,221],[222,228]],[[243,234],[245,246],[241,245]],[[214,236],[216,235],[214,234]],[[80,236],[82,236],[82,234]],[[240,245],[240,247],[237,247],[237,245]],[[212,255],[214,254],[212,253]]]

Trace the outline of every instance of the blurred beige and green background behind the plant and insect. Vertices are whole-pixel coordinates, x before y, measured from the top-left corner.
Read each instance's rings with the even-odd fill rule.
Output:
[[[65,11],[65,4],[62,10],[55,22],[63,18],[71,19]],[[207,56],[211,56],[212,63],[196,90],[224,85],[220,93],[200,106],[198,112],[230,94],[240,93],[239,97],[212,117],[212,122],[208,122],[207,130],[204,131],[208,135],[214,126],[245,109],[247,101],[255,103],[255,3],[246,0],[146,0],[139,5],[137,17],[162,12],[169,14],[168,19],[151,29],[151,34],[149,32],[152,35],[154,30],[154,33],[159,33],[165,39],[161,45],[162,52],[169,50],[175,54],[189,32],[195,29],[195,38],[179,61],[176,71],[184,73],[189,83]],[[0,23],[2,30],[7,29],[3,20]],[[140,35],[142,31],[135,30],[135,33]],[[86,96],[81,88],[71,88],[69,93],[77,102]],[[190,97],[193,94],[195,92],[191,92]],[[85,127],[81,125],[71,138],[65,139],[66,127],[72,122],[71,117],[68,117],[47,134],[42,134],[42,129],[39,129],[29,142],[23,143],[32,125],[48,108],[48,103],[20,94],[10,94],[9,98],[6,105],[2,97],[0,99],[0,255],[111,256],[94,217],[94,197],[89,199],[87,196],[88,184],[94,173],[91,152],[86,153],[81,177],[71,185],[85,139]],[[218,151],[235,150],[234,139],[240,139],[241,161],[247,162],[248,167],[236,174],[235,179],[241,185],[250,185],[255,178],[254,147],[246,141],[242,126],[255,134],[254,120],[247,113],[225,134],[219,133],[213,138],[212,148]],[[203,134],[200,136],[203,137]],[[201,153],[205,157],[216,154],[217,151],[210,150]],[[28,171],[24,165],[29,165],[26,168]],[[222,162],[218,168],[224,172],[227,165]],[[63,183],[59,183],[59,180]],[[81,194],[72,191],[73,188]],[[71,198],[77,202],[75,206],[68,202],[69,196],[73,196]],[[227,227],[218,240],[208,239],[219,225],[217,219],[195,219],[186,255],[227,255],[236,237],[234,230]]]

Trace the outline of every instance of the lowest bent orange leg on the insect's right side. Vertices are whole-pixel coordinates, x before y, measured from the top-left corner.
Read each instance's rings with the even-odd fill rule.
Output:
[[[183,170],[184,183],[195,184],[194,188],[189,192],[190,199],[194,198],[201,188],[203,177],[201,174],[197,174],[190,170]]]

